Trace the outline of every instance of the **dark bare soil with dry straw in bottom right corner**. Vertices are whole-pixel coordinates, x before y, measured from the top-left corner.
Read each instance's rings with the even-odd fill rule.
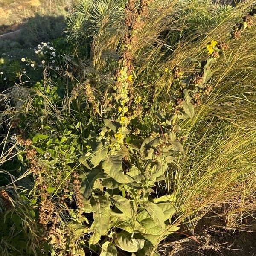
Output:
[[[160,246],[163,256],[256,256],[256,215],[240,227],[227,228],[221,218],[202,219],[194,235],[174,234]]]

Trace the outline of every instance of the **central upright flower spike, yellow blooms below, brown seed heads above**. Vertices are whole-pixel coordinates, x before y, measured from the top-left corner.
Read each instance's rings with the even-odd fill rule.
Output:
[[[116,97],[118,115],[117,121],[121,127],[118,128],[117,133],[114,135],[116,143],[114,148],[118,149],[123,144],[125,134],[127,133],[127,126],[131,119],[134,119],[136,113],[140,112],[140,101],[141,97],[134,97],[133,93],[133,52],[132,49],[137,43],[137,32],[142,27],[142,18],[148,13],[148,6],[153,0],[140,0],[140,6],[136,8],[135,1],[129,0],[125,7],[125,27],[126,33],[123,37],[122,57],[119,60],[119,68],[116,74]],[[134,103],[134,112],[129,113],[129,107]]]

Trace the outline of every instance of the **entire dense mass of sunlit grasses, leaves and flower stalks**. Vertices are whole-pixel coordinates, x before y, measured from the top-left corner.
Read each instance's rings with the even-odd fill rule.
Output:
[[[64,36],[3,52],[3,255],[157,256],[255,209],[255,4],[81,1]]]

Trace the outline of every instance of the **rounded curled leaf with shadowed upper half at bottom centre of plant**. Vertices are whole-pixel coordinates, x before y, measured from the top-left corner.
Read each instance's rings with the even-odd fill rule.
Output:
[[[115,243],[120,249],[126,252],[135,253],[143,248],[145,241],[143,239],[133,239],[131,238],[131,235],[131,233],[126,231],[116,233]]]

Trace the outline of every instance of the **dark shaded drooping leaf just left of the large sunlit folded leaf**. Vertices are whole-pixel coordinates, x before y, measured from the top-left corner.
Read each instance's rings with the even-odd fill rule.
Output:
[[[81,193],[85,198],[88,198],[93,189],[93,184],[97,179],[104,179],[107,175],[100,172],[99,169],[92,169],[87,175],[82,178]]]

